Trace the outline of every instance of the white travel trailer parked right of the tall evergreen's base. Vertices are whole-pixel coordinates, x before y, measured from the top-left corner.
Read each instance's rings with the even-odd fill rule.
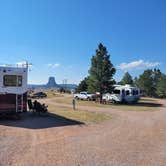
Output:
[[[140,99],[141,91],[131,85],[114,85],[113,93],[103,95],[103,100],[112,103],[134,103]]]

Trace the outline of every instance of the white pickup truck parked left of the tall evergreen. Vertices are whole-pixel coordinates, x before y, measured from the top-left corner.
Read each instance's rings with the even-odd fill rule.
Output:
[[[94,100],[95,94],[89,93],[89,92],[80,92],[80,93],[74,94],[74,98],[77,100]]]

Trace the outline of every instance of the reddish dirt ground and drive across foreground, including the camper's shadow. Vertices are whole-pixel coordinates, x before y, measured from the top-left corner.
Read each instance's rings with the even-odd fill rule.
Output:
[[[166,101],[158,102],[152,112],[80,107],[113,116],[101,124],[59,116],[1,120],[0,166],[165,166]]]

